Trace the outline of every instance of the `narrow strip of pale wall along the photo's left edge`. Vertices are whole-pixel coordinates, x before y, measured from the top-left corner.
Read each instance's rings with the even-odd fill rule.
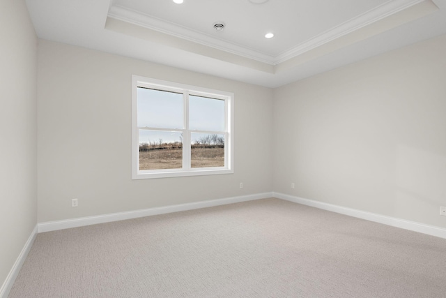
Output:
[[[0,1],[0,288],[37,223],[36,44],[24,1]]]

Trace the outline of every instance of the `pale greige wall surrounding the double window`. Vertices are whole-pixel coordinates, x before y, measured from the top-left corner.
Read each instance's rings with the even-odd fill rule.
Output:
[[[132,180],[132,75],[233,92],[235,173]],[[47,40],[38,78],[39,222],[272,189],[271,89]]]

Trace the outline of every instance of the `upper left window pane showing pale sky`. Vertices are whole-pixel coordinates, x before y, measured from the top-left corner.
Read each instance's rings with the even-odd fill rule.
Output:
[[[138,87],[138,126],[184,127],[183,94]]]

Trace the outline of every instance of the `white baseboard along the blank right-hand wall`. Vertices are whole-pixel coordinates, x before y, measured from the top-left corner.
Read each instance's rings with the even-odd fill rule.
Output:
[[[316,207],[319,209],[324,209],[328,211],[337,212],[339,214],[345,214],[348,216],[353,216],[356,218],[362,218],[367,221],[374,221],[376,223],[383,223],[385,225],[391,225],[392,227],[396,228],[402,228],[405,230],[411,230],[414,232],[420,232],[423,234],[429,234],[431,236],[436,236],[440,238],[446,239],[446,229],[436,227],[434,225],[425,225],[424,223],[417,223],[415,221],[406,221],[405,219],[401,218],[394,218],[391,216],[384,216],[381,214],[374,214],[367,211],[361,211],[357,209],[347,208],[347,207],[341,207],[334,204],[328,204],[325,202],[319,202],[315,200],[309,200],[305,198],[299,198],[295,197],[293,195],[286,195],[284,193],[272,193],[272,196],[274,198],[287,200],[290,202],[295,202],[298,204],[304,204],[311,207]]]

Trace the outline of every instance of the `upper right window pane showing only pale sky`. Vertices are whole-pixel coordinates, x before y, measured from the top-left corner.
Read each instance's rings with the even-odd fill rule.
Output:
[[[197,131],[224,131],[224,100],[189,96],[189,128]]]

